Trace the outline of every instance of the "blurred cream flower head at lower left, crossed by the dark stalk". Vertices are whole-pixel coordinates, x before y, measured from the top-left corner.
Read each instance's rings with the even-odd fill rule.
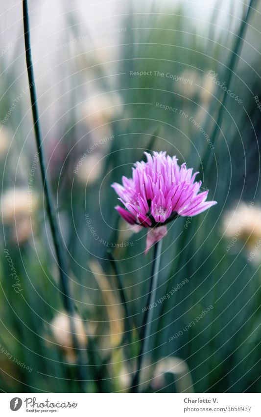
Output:
[[[88,338],[84,323],[79,314],[74,315],[73,323],[79,347],[84,348],[86,347]],[[76,355],[73,349],[73,338],[68,314],[64,311],[59,312],[50,322],[50,328],[55,343],[57,343],[60,349],[64,352],[67,360],[74,362]]]

